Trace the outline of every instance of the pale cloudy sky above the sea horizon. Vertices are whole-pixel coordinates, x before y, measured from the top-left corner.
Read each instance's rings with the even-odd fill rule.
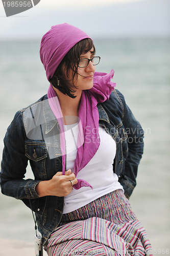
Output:
[[[169,13],[170,0],[41,0],[6,17],[1,1],[0,40],[39,40],[51,26],[65,22],[92,38],[169,37]]]

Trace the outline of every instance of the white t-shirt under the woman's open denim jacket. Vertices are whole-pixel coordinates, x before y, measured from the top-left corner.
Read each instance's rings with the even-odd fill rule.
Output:
[[[78,124],[64,125],[66,140],[66,169],[74,172],[74,163],[77,155]],[[123,189],[118,177],[113,173],[113,160],[116,154],[116,143],[99,125],[100,146],[88,164],[80,170],[77,179],[87,181],[91,187],[73,189],[64,198],[64,211],[74,211],[93,200],[102,197],[116,189]]]

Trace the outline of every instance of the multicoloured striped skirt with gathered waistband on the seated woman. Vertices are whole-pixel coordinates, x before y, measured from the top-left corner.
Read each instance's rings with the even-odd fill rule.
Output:
[[[148,235],[118,189],[64,214],[44,247],[49,256],[149,256]]]

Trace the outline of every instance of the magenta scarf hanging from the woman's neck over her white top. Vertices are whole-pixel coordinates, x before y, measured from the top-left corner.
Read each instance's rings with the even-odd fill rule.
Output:
[[[79,134],[78,134],[78,151],[74,165],[75,176],[77,177],[80,170],[92,159],[100,145],[99,137],[99,112],[98,103],[109,99],[111,92],[114,90],[115,83],[111,82],[114,71],[110,74],[95,72],[93,87],[89,90],[82,91],[81,102],[79,106]],[[52,85],[47,92],[50,107],[58,120],[60,126],[60,147],[62,152],[62,173],[65,175],[65,134],[63,125],[63,116],[60,103]],[[93,136],[93,139],[91,139]],[[74,185],[75,189],[91,185],[81,179]],[[92,188],[92,187],[91,187]]]

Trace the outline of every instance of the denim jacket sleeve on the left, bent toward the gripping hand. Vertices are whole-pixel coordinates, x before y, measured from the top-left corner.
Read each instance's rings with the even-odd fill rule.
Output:
[[[4,138],[0,184],[4,195],[23,201],[26,198],[38,198],[35,186],[39,182],[24,179],[28,164],[28,158],[25,156],[25,136],[21,112],[18,111]]]

